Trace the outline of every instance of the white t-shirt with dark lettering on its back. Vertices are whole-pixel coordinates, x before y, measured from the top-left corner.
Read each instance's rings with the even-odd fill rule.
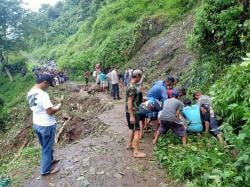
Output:
[[[33,112],[33,123],[39,126],[51,126],[56,124],[54,115],[49,115],[46,109],[53,107],[49,94],[42,89],[31,89],[27,95],[30,109]]]

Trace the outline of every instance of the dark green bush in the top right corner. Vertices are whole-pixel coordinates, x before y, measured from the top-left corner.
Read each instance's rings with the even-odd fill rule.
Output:
[[[246,11],[238,0],[205,0],[197,12],[191,37],[198,54],[216,56],[220,63],[237,62],[250,48]]]

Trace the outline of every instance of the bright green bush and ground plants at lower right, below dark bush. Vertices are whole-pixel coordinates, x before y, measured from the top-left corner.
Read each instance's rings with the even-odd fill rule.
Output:
[[[177,137],[164,136],[155,155],[168,175],[190,186],[249,186],[250,184],[250,59],[232,65],[211,88],[214,109],[224,119],[228,143],[224,149],[209,136],[189,136],[183,147]]]

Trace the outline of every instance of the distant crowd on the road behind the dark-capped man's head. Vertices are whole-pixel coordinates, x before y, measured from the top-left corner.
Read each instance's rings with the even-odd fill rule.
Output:
[[[41,75],[50,75],[53,78],[53,84],[59,85],[67,82],[68,77],[63,71],[57,71],[56,69],[49,69],[47,67],[35,67],[32,69],[33,74],[36,79],[38,79]]]

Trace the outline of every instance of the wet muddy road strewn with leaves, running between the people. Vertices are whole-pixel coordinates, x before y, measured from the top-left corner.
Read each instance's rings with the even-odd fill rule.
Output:
[[[141,144],[147,158],[135,159],[132,152],[126,150],[128,128],[124,101],[114,102],[108,95],[100,93],[95,97],[112,104],[111,109],[96,115],[88,124],[81,124],[91,129],[95,123],[95,130],[69,144],[57,145],[55,155],[61,159],[58,163],[60,172],[40,177],[38,166],[25,186],[172,186],[152,155],[151,133],[145,134]]]

